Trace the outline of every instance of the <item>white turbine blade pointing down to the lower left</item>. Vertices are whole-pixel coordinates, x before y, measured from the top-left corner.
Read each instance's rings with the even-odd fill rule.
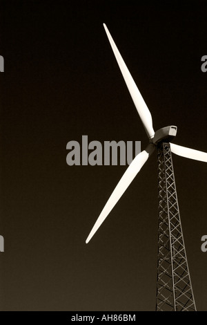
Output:
[[[99,215],[99,218],[97,219],[95,225],[93,226],[88,238],[86,239],[86,243],[90,241],[92,236],[97,232],[99,229],[101,223],[106,219],[112,208],[116,205],[116,203],[119,201],[119,198],[121,198],[122,194],[126,191],[132,180],[135,178],[135,176],[139,173],[141,167],[146,163],[146,160],[148,160],[148,157],[152,152],[154,151],[155,146],[150,144],[144,151],[141,151],[140,154],[138,154],[134,160],[132,160],[132,163],[130,163],[128,169],[126,169],[124,175],[119,180],[119,183],[115,187],[114,191],[112,192],[110,198],[108,199],[105,207],[103,207],[103,210],[101,214]]]

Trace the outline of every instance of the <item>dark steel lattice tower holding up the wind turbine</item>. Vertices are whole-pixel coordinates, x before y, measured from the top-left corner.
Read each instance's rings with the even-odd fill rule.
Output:
[[[157,145],[159,229],[157,311],[195,311],[179,216],[170,144]]]

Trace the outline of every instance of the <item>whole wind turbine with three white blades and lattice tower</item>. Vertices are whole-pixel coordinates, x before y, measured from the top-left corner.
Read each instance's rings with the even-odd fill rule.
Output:
[[[207,153],[172,144],[171,141],[177,133],[177,127],[175,126],[164,127],[156,132],[154,131],[152,116],[148,106],[132,79],[108,28],[105,24],[103,26],[141,122],[144,124],[149,144],[144,151],[141,151],[132,160],[132,163],[126,169],[106,205],[103,207],[99,218],[86,239],[86,243],[97,232],[101,223],[106,219],[112,208],[115,207],[119,198],[121,198],[132,180],[137,176],[152,152],[157,149],[159,228],[156,310],[196,310],[179,216],[171,153],[206,163]]]

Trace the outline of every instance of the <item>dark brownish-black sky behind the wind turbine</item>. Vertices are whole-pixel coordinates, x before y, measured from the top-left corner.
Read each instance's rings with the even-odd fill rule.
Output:
[[[105,22],[154,129],[177,125],[175,143],[207,151],[207,3],[182,3],[1,1],[1,310],[155,310],[156,155],[86,245],[126,167],[70,167],[66,144],[148,143]],[[195,301],[207,310],[207,166],[173,162]]]

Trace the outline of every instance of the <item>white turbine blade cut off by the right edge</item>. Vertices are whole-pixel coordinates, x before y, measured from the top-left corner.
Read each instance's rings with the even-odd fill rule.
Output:
[[[207,163],[207,153],[195,149],[190,149],[186,147],[182,147],[179,145],[175,145],[174,143],[170,143],[170,149],[173,154],[176,154],[181,157],[190,158],[194,160],[204,161]]]

